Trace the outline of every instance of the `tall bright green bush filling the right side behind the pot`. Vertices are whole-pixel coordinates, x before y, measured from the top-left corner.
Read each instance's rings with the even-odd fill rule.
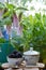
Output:
[[[22,44],[25,46],[25,51],[30,47],[34,47],[35,51],[41,52],[41,56],[43,56],[43,58],[46,58],[46,15],[35,13],[34,16],[24,16],[20,24],[24,27]]]

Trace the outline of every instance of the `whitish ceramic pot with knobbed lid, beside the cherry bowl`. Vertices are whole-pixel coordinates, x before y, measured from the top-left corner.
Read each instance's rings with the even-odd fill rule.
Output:
[[[36,65],[40,58],[40,52],[33,51],[33,47],[30,47],[30,51],[24,52],[24,57],[27,65]]]

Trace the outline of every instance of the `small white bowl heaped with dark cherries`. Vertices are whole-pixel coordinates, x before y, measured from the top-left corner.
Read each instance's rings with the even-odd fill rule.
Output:
[[[19,65],[22,60],[22,54],[18,51],[14,51],[7,56],[9,65]]]

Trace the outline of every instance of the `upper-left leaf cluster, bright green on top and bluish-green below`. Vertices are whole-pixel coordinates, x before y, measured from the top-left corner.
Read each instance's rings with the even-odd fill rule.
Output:
[[[26,8],[22,6],[15,6],[14,4],[10,3],[0,3],[0,9],[4,9],[4,13],[2,15],[2,18],[0,19],[0,26],[3,25],[11,25],[12,24],[12,17],[13,14],[16,13],[16,11],[27,11]]]

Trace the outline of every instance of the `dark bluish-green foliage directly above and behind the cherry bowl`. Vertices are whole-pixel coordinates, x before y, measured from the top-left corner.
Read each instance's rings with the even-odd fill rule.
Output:
[[[22,37],[20,37],[20,36],[15,36],[15,37],[11,40],[11,45],[22,53],[22,52],[24,52],[22,42],[24,42]]]

